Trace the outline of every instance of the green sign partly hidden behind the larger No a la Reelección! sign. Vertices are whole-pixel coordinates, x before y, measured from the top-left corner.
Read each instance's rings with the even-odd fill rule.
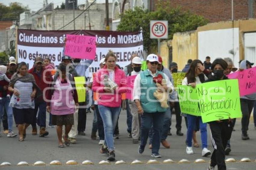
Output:
[[[178,85],[177,92],[180,102],[180,111],[182,113],[200,116],[196,89],[193,89],[191,86]]]

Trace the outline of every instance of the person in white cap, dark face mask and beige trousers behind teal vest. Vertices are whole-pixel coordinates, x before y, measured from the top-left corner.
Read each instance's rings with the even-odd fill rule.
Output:
[[[138,75],[141,71],[141,65],[142,61],[139,57],[134,57],[132,60],[132,68],[133,71],[131,72],[131,75]],[[139,143],[139,133],[140,133],[140,115],[138,114],[138,109],[136,106],[136,103],[134,101],[129,101],[129,106],[131,109],[131,114],[133,116],[132,120],[132,138],[133,143],[137,144]]]

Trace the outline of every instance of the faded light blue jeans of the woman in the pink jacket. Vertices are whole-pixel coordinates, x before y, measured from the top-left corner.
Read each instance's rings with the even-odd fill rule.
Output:
[[[117,124],[117,119],[120,114],[121,107],[111,108],[103,105],[98,105],[99,112],[104,124],[105,144],[109,151],[114,150],[114,130]]]

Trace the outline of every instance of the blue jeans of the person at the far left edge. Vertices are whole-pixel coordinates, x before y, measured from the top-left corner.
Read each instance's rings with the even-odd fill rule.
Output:
[[[5,108],[7,113],[7,121],[8,121],[8,131],[12,132],[12,122],[13,122],[13,114],[12,114],[12,107],[9,106],[10,98],[9,97],[2,97],[0,100],[0,123],[2,121],[3,115],[3,108]]]

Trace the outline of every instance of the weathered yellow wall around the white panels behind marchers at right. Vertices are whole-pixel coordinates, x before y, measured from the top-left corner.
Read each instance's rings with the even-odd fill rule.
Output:
[[[170,46],[173,48],[173,62],[177,62],[178,70],[182,70],[188,59],[198,59],[198,32],[229,28],[233,28],[232,21],[210,23],[195,31],[175,33],[171,43],[170,40],[161,42],[164,65],[169,65]],[[234,28],[239,28],[239,58],[244,59],[244,33],[256,32],[256,19],[234,21]]]

